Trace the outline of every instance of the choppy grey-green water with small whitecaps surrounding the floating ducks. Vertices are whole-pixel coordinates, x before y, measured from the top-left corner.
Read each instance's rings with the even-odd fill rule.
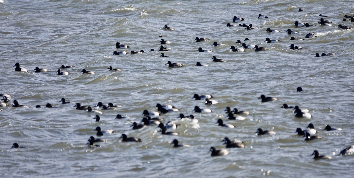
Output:
[[[303,12],[298,12],[302,8]],[[2,108],[0,112],[0,150],[2,177],[352,177],[353,156],[334,156],[332,160],[313,160],[321,155],[338,154],[353,142],[353,28],[342,30],[338,24],[344,14],[353,15],[352,1],[98,1],[40,0],[0,1],[1,93],[10,94],[29,108]],[[267,19],[258,19],[258,14]],[[319,26],[319,14],[334,22]],[[257,27],[225,27],[233,16]],[[296,28],[295,21],[316,24]],[[236,23],[238,24],[238,23]],[[164,25],[175,31],[164,30]],[[265,29],[278,29],[267,33]],[[287,28],[299,31],[285,33]],[[304,38],[315,32],[316,38]],[[172,48],[161,58],[160,52],[112,56],[117,41],[131,46],[126,51],[158,50],[160,35],[172,41]],[[195,37],[209,38],[197,43]],[[236,40],[270,50],[230,52]],[[281,40],[267,44],[265,38]],[[223,46],[211,47],[213,41]],[[291,50],[291,43],[308,50]],[[240,46],[240,45],[238,45]],[[200,53],[202,47],[214,51]],[[335,53],[314,57],[315,53]],[[217,56],[227,62],[212,62]],[[182,68],[167,68],[167,61],[183,63]],[[196,67],[196,62],[209,65]],[[15,72],[19,62],[30,73]],[[69,76],[57,76],[61,65]],[[112,72],[106,68],[123,69]],[[50,72],[34,73],[35,67]],[[82,69],[94,75],[81,74]],[[301,86],[304,91],[296,93]],[[192,100],[193,94],[212,94],[219,104],[204,106]],[[261,94],[278,101],[261,103]],[[61,98],[96,105],[113,102],[116,111],[103,111],[105,122],[95,123],[95,114],[75,110],[74,104],[59,104]],[[51,103],[57,108],[37,108]],[[131,130],[141,113],[153,111],[156,103],[172,104],[180,112],[163,115],[165,123],[181,124],[178,136],[157,132],[155,127]],[[295,118],[281,105],[307,108],[311,119]],[[208,107],[212,113],[193,113],[194,106]],[[228,120],[225,107],[247,110],[243,121]],[[194,114],[198,124],[179,120],[179,113]],[[117,114],[129,119],[114,120]],[[235,129],[218,127],[218,118]],[[322,140],[305,142],[294,134],[297,127],[313,123]],[[325,124],[343,128],[325,132]],[[97,126],[118,133],[100,148],[87,147]],[[257,128],[273,129],[277,134],[258,137]],[[122,143],[122,133],[138,137],[142,143]],[[245,141],[247,148],[228,149],[230,154],[211,157],[209,148],[224,148],[224,137]],[[174,149],[173,139],[189,148]],[[10,149],[13,143],[25,148]]]

